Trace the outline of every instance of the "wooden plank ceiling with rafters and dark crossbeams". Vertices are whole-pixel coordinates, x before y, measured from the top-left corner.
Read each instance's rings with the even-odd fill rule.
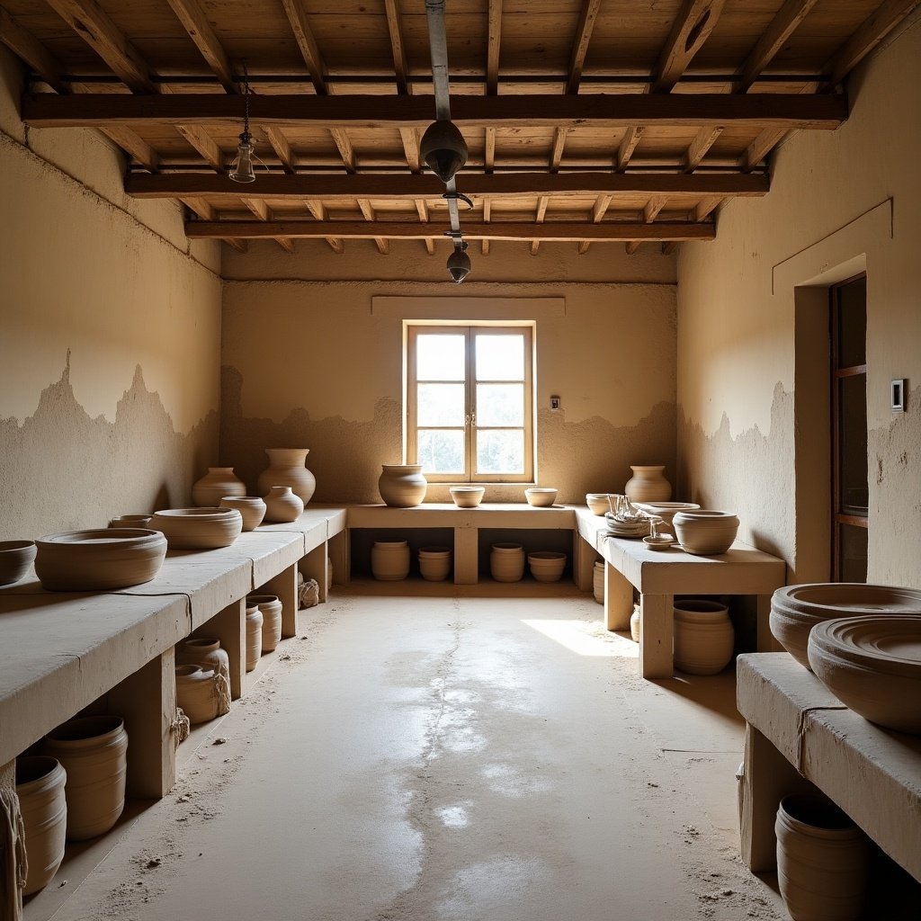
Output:
[[[711,239],[788,132],[845,121],[845,77],[919,3],[445,0],[464,239]],[[107,134],[126,191],[180,200],[190,238],[445,238],[425,0],[0,0],[0,41],[29,73],[23,121]]]

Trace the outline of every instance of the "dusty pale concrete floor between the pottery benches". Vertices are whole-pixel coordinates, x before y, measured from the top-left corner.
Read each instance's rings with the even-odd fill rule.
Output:
[[[562,583],[337,587],[27,921],[785,917],[738,858],[733,675],[645,682],[600,614]]]

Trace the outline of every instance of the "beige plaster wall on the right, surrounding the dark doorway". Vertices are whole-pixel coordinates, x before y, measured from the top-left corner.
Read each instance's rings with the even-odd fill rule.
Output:
[[[763,200],[679,257],[682,491],[738,510],[791,581],[828,577],[822,288],[868,275],[869,581],[921,587],[921,17],[851,79],[834,134],[796,134]],[[819,289],[819,297],[815,297]],[[909,381],[892,414],[891,379]]]

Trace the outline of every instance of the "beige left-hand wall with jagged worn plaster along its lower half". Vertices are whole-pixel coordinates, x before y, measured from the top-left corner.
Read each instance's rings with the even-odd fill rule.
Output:
[[[0,48],[0,539],[181,505],[217,453],[217,244],[122,193],[91,131],[31,130]]]

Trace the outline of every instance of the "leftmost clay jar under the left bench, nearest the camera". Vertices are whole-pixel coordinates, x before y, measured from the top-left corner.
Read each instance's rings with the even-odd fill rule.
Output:
[[[43,889],[64,859],[67,830],[66,772],[55,758],[27,755],[16,759],[16,795],[26,833],[29,873],[23,895]]]

